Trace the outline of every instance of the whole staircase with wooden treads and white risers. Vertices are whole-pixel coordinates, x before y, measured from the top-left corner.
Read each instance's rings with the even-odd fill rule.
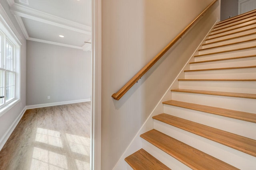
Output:
[[[217,23],[125,158],[135,170],[256,169],[256,10]]]

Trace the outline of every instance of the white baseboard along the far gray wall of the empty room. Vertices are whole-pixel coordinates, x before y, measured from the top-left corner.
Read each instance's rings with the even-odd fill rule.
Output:
[[[35,104],[26,106],[26,109],[36,109],[41,107],[49,107],[49,106],[58,106],[58,105],[64,105],[64,104],[74,104],[74,103],[81,103],[81,102],[90,102],[91,99],[81,99],[81,100],[70,100],[70,101],[64,101],[64,102],[54,102],[54,103],[45,103],[45,104]]]

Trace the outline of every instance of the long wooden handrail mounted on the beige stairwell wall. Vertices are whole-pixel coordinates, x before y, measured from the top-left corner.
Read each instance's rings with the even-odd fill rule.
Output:
[[[112,98],[119,100],[124,94],[184,35],[190,27],[196,23],[218,0],[214,0],[203,12],[201,12],[186,28],[184,28],[160,53],[158,53],[146,66],[144,66],[129,82],[118,92],[112,94]]]

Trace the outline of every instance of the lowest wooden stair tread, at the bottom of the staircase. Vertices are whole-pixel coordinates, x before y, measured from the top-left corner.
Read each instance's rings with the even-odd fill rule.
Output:
[[[138,150],[124,160],[134,170],[171,170],[144,149]]]

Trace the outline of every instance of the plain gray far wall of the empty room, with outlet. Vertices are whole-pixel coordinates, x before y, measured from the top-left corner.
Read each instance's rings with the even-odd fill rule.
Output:
[[[90,97],[90,51],[27,41],[27,106]]]

